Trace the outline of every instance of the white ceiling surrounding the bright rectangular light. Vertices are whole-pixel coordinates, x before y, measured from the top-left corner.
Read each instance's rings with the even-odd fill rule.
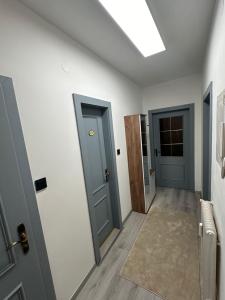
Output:
[[[21,1],[142,86],[201,71],[216,2],[147,0],[167,51],[144,58],[98,0]]]

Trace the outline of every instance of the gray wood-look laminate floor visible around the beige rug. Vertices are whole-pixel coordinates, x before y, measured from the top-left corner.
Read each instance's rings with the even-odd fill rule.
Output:
[[[169,188],[158,188],[152,205],[173,207],[175,210],[197,212],[195,193]],[[145,220],[145,215],[132,212],[109,253],[100,266],[96,267],[82,288],[77,300],[161,300],[154,294],[120,277],[119,273],[126,261],[129,250],[135,242]]]

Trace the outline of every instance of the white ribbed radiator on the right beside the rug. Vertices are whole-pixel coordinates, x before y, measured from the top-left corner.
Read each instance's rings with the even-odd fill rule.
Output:
[[[200,281],[202,300],[216,300],[217,232],[210,201],[201,200]]]

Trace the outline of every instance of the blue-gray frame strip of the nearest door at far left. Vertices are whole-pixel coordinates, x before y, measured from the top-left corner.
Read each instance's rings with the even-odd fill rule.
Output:
[[[25,205],[27,206],[29,212],[33,241],[38,255],[39,266],[46,291],[46,299],[56,300],[44,234],[41,226],[41,219],[37,206],[34,184],[20,122],[16,96],[13,88],[13,81],[9,77],[0,75],[0,82],[3,87],[3,93],[7,96],[7,101],[5,101],[6,113],[12,133],[20,178],[24,189]]]

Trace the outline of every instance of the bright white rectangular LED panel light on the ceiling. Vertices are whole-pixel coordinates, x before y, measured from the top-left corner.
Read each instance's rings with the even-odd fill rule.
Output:
[[[145,0],[99,0],[144,57],[166,48]]]

